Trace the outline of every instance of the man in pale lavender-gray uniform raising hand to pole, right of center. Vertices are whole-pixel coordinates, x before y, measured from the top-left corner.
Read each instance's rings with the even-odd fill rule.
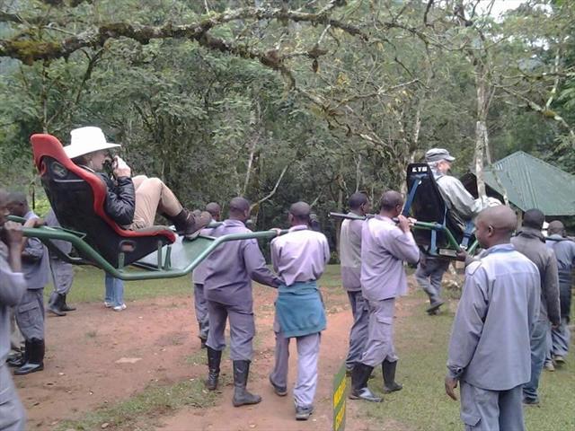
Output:
[[[395,297],[407,293],[403,261],[417,263],[420,251],[410,231],[410,221],[401,216],[403,197],[387,191],[379,204],[379,215],[368,219],[361,232],[361,291],[369,304],[366,350],[351,374],[352,400],[380,402],[367,387],[376,365],[382,365],[384,391],[399,391],[395,383],[397,356],[394,347]],[[399,227],[394,218],[399,219]]]

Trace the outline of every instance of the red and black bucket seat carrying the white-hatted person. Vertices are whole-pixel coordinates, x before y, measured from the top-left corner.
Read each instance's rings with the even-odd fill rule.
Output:
[[[84,233],[84,241],[114,268],[136,262],[176,240],[175,233],[165,226],[130,231],[116,224],[104,211],[106,184],[102,178],[75,165],[55,136],[32,135],[31,145],[58,222],[65,229]]]

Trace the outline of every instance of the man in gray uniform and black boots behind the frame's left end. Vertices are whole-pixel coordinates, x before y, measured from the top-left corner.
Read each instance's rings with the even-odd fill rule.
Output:
[[[11,214],[26,219],[24,226],[32,227],[40,219],[28,207],[22,193],[8,198]],[[48,284],[48,252],[40,240],[25,240],[22,249],[22,272],[26,278],[26,292],[16,308],[16,322],[26,341],[23,364],[14,374],[29,374],[44,369],[44,286]]]

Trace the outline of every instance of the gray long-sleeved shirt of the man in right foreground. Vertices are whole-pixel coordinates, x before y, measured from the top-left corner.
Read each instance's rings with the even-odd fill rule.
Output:
[[[528,382],[540,291],[539,271],[511,244],[483,251],[465,269],[447,374],[489,391]]]

